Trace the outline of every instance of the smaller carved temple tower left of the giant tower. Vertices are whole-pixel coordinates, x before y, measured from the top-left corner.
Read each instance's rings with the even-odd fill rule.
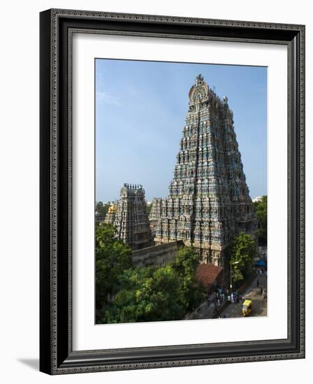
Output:
[[[114,226],[117,237],[133,251],[151,245],[151,232],[142,185],[124,184],[117,202]]]

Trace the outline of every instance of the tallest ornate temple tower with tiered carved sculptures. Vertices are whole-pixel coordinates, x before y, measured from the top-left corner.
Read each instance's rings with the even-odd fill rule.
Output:
[[[224,267],[224,251],[231,240],[243,231],[254,235],[257,219],[227,97],[221,100],[197,75],[189,99],[155,244],[181,239],[201,253],[204,263]]]

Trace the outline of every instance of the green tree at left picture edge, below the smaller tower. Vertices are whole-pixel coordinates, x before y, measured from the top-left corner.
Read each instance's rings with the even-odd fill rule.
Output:
[[[111,224],[96,224],[96,310],[99,313],[109,295],[119,289],[119,276],[132,267],[129,246],[115,237]]]

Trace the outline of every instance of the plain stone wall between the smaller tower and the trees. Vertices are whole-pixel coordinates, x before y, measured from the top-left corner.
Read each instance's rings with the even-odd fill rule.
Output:
[[[178,240],[177,242],[149,246],[148,248],[133,251],[132,263],[134,263],[135,267],[164,267],[174,261],[180,246],[183,246],[183,242]]]

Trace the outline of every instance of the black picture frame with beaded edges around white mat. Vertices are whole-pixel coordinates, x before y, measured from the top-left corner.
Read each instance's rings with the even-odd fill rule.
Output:
[[[207,38],[288,47],[288,337],[72,350],[71,31]],[[105,346],[104,346],[105,348]],[[305,357],[305,26],[85,10],[40,13],[40,371],[182,367]]]

